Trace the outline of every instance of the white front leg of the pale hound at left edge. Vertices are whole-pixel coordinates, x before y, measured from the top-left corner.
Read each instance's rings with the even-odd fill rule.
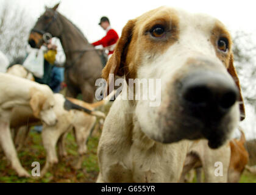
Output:
[[[10,133],[9,122],[0,121],[0,144],[7,157],[11,162],[12,168],[18,173],[19,177],[30,177],[30,174],[21,166],[20,160],[15,150]]]

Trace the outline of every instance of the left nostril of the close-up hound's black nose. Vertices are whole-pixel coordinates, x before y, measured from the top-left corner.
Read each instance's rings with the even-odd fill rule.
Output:
[[[205,86],[195,86],[188,88],[183,94],[183,98],[193,104],[203,104],[211,98],[210,90]]]

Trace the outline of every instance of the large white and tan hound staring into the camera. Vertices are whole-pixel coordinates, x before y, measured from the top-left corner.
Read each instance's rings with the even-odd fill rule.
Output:
[[[178,182],[188,140],[224,145],[244,117],[231,50],[229,32],[208,15],[160,7],[128,21],[102,77],[161,79],[161,104],[113,103],[99,140],[98,182]]]

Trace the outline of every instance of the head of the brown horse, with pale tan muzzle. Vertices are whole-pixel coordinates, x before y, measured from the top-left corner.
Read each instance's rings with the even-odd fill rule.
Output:
[[[43,43],[47,42],[51,35],[59,37],[62,32],[62,24],[58,19],[57,8],[45,7],[45,12],[41,15],[29,35],[29,44],[32,48],[40,48]]]

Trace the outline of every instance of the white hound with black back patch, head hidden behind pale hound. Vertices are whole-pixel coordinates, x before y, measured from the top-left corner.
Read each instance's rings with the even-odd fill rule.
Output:
[[[42,131],[42,141],[44,149],[46,150],[46,164],[41,171],[41,177],[46,174],[46,172],[52,168],[55,163],[58,163],[59,159],[57,157],[56,145],[58,144],[59,155],[60,157],[65,157],[65,137],[66,134],[74,129],[74,134],[77,143],[77,151],[79,154],[79,158],[77,159],[75,168],[80,168],[82,166],[82,160],[84,155],[87,152],[87,139],[90,135],[90,130],[93,128],[94,123],[96,122],[96,116],[99,118],[105,118],[104,113],[99,111],[94,111],[94,108],[90,106],[91,104],[86,106],[86,103],[82,104],[84,107],[79,107],[80,110],[77,110],[77,104],[73,102],[83,102],[79,100],[70,99],[69,108],[66,108],[67,99],[64,98],[62,94],[55,93],[55,106],[54,112],[58,118],[58,122],[55,126],[43,126]],[[72,101],[72,102],[71,102]],[[107,100],[102,100],[98,102],[98,105],[103,105],[104,102],[108,102]],[[86,109],[86,112],[83,110]]]

